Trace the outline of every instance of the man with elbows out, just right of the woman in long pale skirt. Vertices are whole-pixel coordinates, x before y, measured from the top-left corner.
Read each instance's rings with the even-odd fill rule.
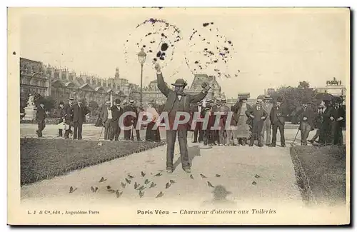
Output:
[[[268,117],[268,114],[266,113],[266,111],[264,111],[263,107],[261,106],[262,104],[263,104],[263,100],[257,99],[256,105],[246,111],[246,116],[252,118],[251,120],[252,134],[251,134],[251,141],[249,143],[249,146],[254,145],[254,138],[258,139],[258,146],[263,146],[263,143],[261,141],[261,130],[263,129],[263,123],[264,120],[266,120],[266,118]]]

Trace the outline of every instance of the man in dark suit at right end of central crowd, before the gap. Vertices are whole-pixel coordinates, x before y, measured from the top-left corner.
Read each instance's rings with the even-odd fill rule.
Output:
[[[283,112],[283,108],[281,107],[282,102],[283,99],[281,96],[278,96],[276,99],[276,105],[271,108],[270,121],[273,126],[273,139],[270,147],[276,146],[276,133],[278,133],[278,129],[280,133],[281,146],[285,147],[284,126],[286,114]]]

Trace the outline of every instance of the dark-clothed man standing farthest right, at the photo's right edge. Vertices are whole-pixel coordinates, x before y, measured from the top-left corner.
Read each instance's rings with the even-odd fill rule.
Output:
[[[343,144],[342,127],[345,117],[346,111],[341,107],[341,98],[338,97],[334,99],[331,111],[331,138],[334,145]]]

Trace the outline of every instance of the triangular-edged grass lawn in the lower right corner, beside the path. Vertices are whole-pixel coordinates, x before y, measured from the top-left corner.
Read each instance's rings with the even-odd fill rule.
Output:
[[[346,146],[295,146],[290,152],[306,203],[346,203]]]

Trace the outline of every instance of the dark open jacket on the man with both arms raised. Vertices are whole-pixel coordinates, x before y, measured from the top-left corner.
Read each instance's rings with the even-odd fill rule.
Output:
[[[167,97],[166,104],[164,106],[163,111],[168,112],[168,114],[170,114],[172,108],[174,107],[174,102],[176,101],[177,94],[172,89],[169,89],[169,86],[166,85],[162,74],[157,74],[157,86],[158,86],[159,90],[161,91],[161,93]],[[197,103],[198,101],[201,101],[202,99],[204,99],[204,97],[206,95],[207,94],[203,94],[203,91],[196,95],[183,94],[182,95],[183,102],[184,102],[183,111],[189,113],[190,112],[190,104]],[[182,99],[181,99],[181,101],[182,101]]]

